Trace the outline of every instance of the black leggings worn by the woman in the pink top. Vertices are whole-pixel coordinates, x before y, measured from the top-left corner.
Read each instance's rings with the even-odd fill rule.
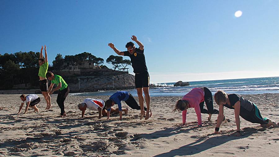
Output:
[[[211,91],[207,87],[203,87],[203,89],[204,89],[204,101],[200,103],[201,113],[219,114],[219,111],[213,108],[213,99],[212,99]],[[203,108],[204,102],[206,102],[207,110]]]

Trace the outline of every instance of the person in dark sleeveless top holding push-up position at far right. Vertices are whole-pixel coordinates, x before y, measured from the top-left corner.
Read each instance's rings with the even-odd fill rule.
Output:
[[[229,109],[234,109],[235,122],[237,125],[237,134],[240,136],[240,119],[241,116],[243,119],[252,122],[259,123],[262,127],[267,128],[269,126],[278,127],[274,121],[269,118],[263,118],[260,114],[258,107],[251,101],[244,99],[239,94],[226,94],[224,91],[219,90],[214,95],[215,102],[219,105],[219,115],[217,119],[217,124],[215,128],[215,134],[218,134],[219,127],[222,123],[222,116],[224,113],[224,106]]]

